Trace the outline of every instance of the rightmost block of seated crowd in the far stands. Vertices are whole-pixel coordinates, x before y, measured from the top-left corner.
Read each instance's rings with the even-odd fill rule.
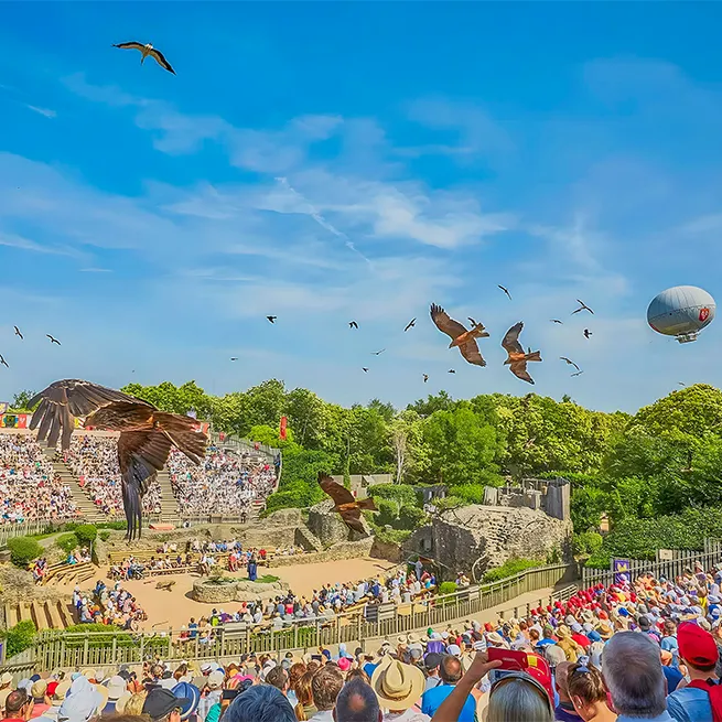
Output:
[[[265,456],[234,454],[213,445],[202,466],[172,450],[168,470],[179,509],[194,514],[249,514],[251,503],[265,499],[276,486],[276,468]]]

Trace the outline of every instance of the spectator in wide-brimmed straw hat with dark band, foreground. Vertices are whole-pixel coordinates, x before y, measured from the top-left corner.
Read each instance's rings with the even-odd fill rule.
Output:
[[[428,722],[419,702],[423,694],[423,672],[386,657],[371,677],[371,687],[379,703],[387,710],[384,722]]]

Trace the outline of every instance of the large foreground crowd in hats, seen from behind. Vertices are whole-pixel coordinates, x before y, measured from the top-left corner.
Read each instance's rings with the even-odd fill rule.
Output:
[[[429,628],[353,654],[341,644],[225,667],[155,659],[109,678],[88,669],[18,685],[4,675],[0,710],[13,722],[718,722],[721,583],[722,568],[619,575],[526,618]],[[97,595],[110,604],[108,590]]]

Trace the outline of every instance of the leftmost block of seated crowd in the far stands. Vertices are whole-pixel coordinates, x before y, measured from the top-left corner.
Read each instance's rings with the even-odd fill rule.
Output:
[[[68,519],[77,514],[71,489],[31,434],[0,434],[0,522]]]

